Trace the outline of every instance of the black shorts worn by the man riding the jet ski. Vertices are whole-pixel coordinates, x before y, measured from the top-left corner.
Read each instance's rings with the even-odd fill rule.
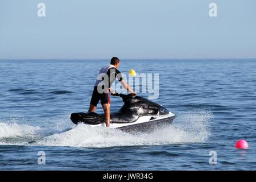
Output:
[[[97,107],[99,100],[101,100],[101,105],[110,104],[109,89],[107,89],[107,93],[98,93],[97,86],[94,86],[90,104]]]

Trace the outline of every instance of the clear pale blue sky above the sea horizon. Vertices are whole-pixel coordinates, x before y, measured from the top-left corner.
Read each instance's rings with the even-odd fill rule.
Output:
[[[255,58],[255,8],[255,0],[0,0],[0,59]]]

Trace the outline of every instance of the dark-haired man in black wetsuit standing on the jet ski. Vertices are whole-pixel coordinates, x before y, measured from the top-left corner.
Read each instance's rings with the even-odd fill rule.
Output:
[[[114,91],[110,88],[111,84],[117,77],[124,88],[131,92],[134,96],[137,94],[131,89],[131,87],[122,78],[121,72],[118,71],[120,61],[117,57],[112,57],[110,64],[106,65],[99,71],[97,81],[94,85],[93,95],[91,96],[91,102],[88,112],[94,112],[97,108],[99,100],[105,113],[106,127],[110,126],[110,96],[109,92],[114,96]]]

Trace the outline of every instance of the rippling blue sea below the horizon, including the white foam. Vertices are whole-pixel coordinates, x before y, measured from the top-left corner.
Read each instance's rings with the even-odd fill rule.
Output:
[[[256,169],[256,60],[122,60],[123,73],[159,73],[155,102],[177,115],[173,125],[140,134],[70,121],[71,113],[87,111],[108,63],[0,60],[0,169]],[[111,111],[121,105],[111,98]],[[241,138],[249,149],[234,147]],[[38,164],[39,151],[46,164]],[[209,163],[211,151],[217,164]]]

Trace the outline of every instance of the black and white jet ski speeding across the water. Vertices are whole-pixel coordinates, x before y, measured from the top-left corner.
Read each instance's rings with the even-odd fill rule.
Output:
[[[176,117],[165,107],[146,98],[118,93],[115,96],[121,97],[124,104],[118,112],[111,113],[110,128],[125,131],[149,131],[162,123],[170,124]],[[73,113],[70,119],[75,125],[82,122],[91,127],[105,127],[104,114]]]

